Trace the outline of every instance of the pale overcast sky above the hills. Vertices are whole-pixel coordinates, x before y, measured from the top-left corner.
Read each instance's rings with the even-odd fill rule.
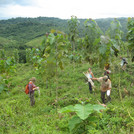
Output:
[[[134,17],[134,0],[0,0],[0,19]]]

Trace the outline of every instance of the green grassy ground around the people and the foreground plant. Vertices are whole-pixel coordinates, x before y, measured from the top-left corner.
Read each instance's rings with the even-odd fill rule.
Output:
[[[88,100],[91,104],[97,104],[100,99],[100,84],[95,81],[96,90],[89,93],[83,71],[89,67],[95,77],[103,74],[97,64],[88,63],[72,65],[68,63],[64,70],[58,70],[57,78],[52,78],[48,88],[46,81],[38,75],[33,66],[19,64],[16,73],[10,76],[8,92],[0,95],[0,133],[2,134],[68,134],[68,120],[72,115],[59,114],[58,110],[68,105],[79,103],[78,100]],[[119,66],[117,65],[119,68]],[[111,74],[112,93],[111,103],[102,112],[98,121],[87,124],[87,133],[97,134],[132,134],[134,132],[134,91],[133,70],[134,64],[130,64],[127,71],[119,71],[112,65]],[[37,78],[36,85],[40,87],[41,96],[35,92],[35,106],[30,106],[29,96],[24,93],[25,85],[31,77]],[[120,82],[120,83],[119,83]],[[124,93],[126,88],[129,94]],[[120,89],[120,90],[119,90]],[[57,92],[56,92],[57,90]],[[120,94],[121,97],[120,98]],[[79,131],[75,132],[79,134]]]

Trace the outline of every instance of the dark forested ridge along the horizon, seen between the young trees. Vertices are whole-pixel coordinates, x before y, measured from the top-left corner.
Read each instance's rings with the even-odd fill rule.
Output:
[[[95,21],[101,30],[105,32],[113,19],[114,18],[96,19]],[[124,32],[123,40],[125,40],[127,18],[118,18],[118,20],[122,25],[122,31]],[[86,19],[79,19],[79,21],[79,36],[82,37],[84,36],[83,30]],[[26,43],[32,39],[43,36],[46,32],[50,32],[51,29],[68,33],[68,20],[49,17],[0,20],[0,37],[16,40],[19,41],[19,43]]]

